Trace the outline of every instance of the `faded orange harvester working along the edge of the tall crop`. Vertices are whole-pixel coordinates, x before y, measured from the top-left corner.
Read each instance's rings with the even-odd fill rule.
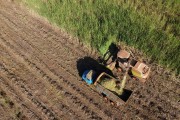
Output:
[[[125,72],[127,67],[129,67],[129,76],[143,83],[147,80],[150,73],[150,67],[143,62],[135,60],[126,50],[119,50],[116,55],[110,55],[105,60],[104,65],[112,71],[116,68],[120,72]]]

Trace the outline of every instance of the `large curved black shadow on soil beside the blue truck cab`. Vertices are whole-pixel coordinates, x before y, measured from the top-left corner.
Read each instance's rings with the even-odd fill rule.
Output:
[[[111,70],[109,70],[104,65],[100,64],[97,60],[91,57],[80,58],[77,61],[77,69],[80,77],[85,70],[94,70],[97,72],[97,75],[102,72],[106,72],[107,74],[114,76]]]

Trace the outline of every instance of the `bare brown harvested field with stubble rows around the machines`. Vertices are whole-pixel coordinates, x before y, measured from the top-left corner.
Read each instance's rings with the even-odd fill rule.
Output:
[[[180,119],[179,77],[158,65],[145,84],[127,82],[133,94],[117,108],[81,81],[98,55],[78,40],[3,0],[0,28],[0,120]]]

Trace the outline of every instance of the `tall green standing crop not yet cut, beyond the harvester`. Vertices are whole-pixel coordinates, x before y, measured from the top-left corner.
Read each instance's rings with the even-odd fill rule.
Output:
[[[180,71],[179,0],[24,0],[102,54],[124,42]]]

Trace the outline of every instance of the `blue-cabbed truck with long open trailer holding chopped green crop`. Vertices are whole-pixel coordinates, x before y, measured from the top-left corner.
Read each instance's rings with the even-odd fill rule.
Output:
[[[117,106],[125,104],[132,94],[131,90],[124,88],[121,92],[121,86],[118,86],[119,84],[117,84],[121,81],[105,72],[97,75],[96,71],[86,70],[82,75],[82,79],[86,81],[88,85],[95,88],[99,94]]]

